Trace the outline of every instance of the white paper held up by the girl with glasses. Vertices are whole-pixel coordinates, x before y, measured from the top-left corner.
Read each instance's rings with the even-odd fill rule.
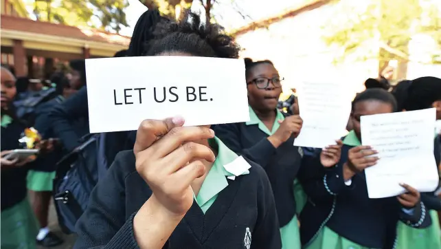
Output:
[[[298,89],[302,131],[295,146],[324,148],[345,131],[353,94],[342,83],[302,83]]]

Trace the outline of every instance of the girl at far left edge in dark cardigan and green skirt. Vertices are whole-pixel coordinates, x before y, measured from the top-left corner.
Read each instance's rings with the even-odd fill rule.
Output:
[[[5,158],[19,149],[26,125],[14,113],[15,77],[1,67],[1,248],[34,249],[38,224],[27,201],[27,160]]]

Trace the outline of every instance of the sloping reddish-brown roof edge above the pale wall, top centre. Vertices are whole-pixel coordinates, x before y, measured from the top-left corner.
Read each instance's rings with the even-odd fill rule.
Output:
[[[301,6],[299,8],[295,8],[293,10],[288,10],[286,12],[282,12],[280,14],[277,14],[273,17],[267,17],[265,19],[261,19],[259,21],[254,21],[253,23],[249,23],[248,25],[245,25],[241,28],[238,28],[236,30],[233,30],[230,32],[232,36],[240,36],[242,34],[245,34],[247,32],[250,32],[251,30],[257,30],[260,28],[267,28],[269,25],[273,23],[277,23],[279,21],[282,21],[289,17],[295,17],[298,14],[302,14],[304,12],[308,12],[310,10],[315,10],[317,8],[320,8],[322,6],[326,6],[329,3],[332,3],[335,0],[315,0],[313,2],[307,3],[304,6]]]

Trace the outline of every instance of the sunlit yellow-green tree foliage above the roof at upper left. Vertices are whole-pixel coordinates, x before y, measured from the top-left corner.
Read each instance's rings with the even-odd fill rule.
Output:
[[[124,9],[126,0],[33,0],[36,19],[72,26],[93,27],[110,32],[120,32],[127,26]]]

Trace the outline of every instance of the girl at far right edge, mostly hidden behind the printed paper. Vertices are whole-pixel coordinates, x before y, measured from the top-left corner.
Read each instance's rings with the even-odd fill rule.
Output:
[[[436,108],[436,119],[441,120],[441,79],[422,77],[416,80],[405,80],[392,90],[400,111],[415,111],[427,108]],[[435,137],[434,153],[439,166],[441,149],[438,134]],[[438,167],[438,169],[440,169]],[[441,248],[441,230],[438,223],[438,213],[441,210],[441,199],[432,193],[421,193],[422,202],[430,210],[432,224],[425,229],[414,229],[398,224],[397,249],[413,248]]]

